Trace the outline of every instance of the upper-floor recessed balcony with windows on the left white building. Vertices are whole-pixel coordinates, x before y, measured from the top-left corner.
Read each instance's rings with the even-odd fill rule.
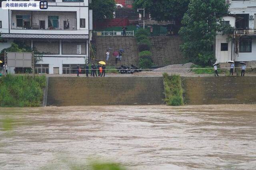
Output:
[[[12,29],[76,30],[76,12],[12,10]]]

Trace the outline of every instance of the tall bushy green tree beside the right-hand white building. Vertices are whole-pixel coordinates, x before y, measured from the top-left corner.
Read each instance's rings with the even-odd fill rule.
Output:
[[[225,0],[191,0],[184,14],[179,34],[183,44],[181,50],[190,62],[202,66],[216,61],[214,40],[216,32],[226,29],[221,24],[222,16],[228,14]]]

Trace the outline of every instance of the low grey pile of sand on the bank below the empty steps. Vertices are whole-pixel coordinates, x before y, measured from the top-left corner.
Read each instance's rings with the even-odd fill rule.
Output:
[[[158,68],[153,70],[152,72],[161,72],[161,73],[189,73],[190,67],[193,65],[192,62],[186,64],[174,64],[165,67]],[[170,70],[168,70],[170,69]]]

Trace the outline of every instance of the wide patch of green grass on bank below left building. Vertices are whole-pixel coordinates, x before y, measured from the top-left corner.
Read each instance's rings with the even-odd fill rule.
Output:
[[[0,78],[1,107],[41,106],[45,76],[11,76]]]

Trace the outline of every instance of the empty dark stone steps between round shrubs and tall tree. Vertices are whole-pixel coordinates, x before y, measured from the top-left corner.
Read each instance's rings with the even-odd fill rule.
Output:
[[[180,52],[180,45],[182,44],[180,36],[154,36],[150,38],[150,41],[154,65],[166,66],[184,62]]]

